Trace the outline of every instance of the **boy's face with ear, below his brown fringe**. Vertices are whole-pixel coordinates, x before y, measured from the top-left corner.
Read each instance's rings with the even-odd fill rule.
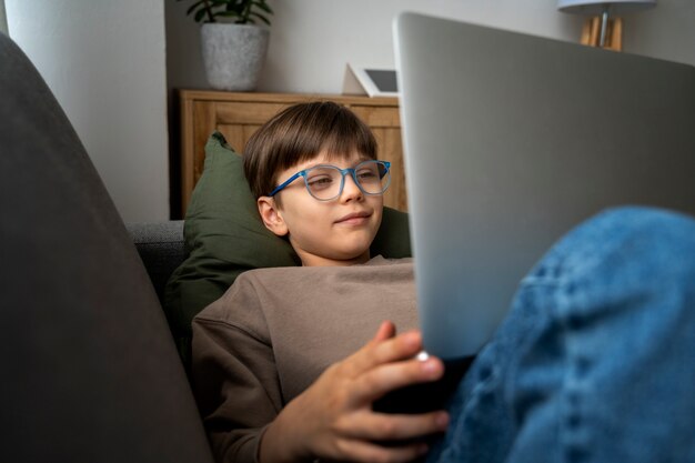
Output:
[[[311,161],[280,172],[276,178],[282,182],[318,164],[354,168],[364,160],[364,157],[353,153],[329,161],[322,152]],[[272,198],[259,198],[261,218],[273,233],[289,235],[303,265],[350,265],[370,259],[370,244],[381,224],[382,195],[364,194],[350,174],[345,175],[340,197],[331,201],[314,199],[302,178],[278,194],[281,195],[281,205]]]

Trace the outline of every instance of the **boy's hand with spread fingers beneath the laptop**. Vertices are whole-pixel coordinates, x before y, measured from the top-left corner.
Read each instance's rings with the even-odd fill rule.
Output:
[[[377,441],[407,440],[443,432],[444,411],[383,414],[372,403],[395,389],[439,380],[439,359],[413,359],[422,350],[419,332],[395,336],[390,322],[356,353],[330,366],[278,415],[261,441],[260,461],[326,460],[406,462],[423,455],[424,443],[382,446]]]

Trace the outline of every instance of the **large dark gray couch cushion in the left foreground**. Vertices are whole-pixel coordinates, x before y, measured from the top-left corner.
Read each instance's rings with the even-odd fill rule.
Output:
[[[209,462],[157,295],[94,167],[0,33],[8,462]]]

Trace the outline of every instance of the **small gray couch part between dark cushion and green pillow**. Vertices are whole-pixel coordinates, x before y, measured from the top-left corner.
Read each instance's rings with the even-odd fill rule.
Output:
[[[183,221],[139,222],[125,225],[160,301],[171,273],[187,258]]]

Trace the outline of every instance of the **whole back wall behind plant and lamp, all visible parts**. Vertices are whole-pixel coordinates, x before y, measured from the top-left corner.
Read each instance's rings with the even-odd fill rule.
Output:
[[[578,41],[583,19],[556,0],[270,0],[275,10],[259,90],[340,93],[346,62],[393,67],[391,22],[404,10]],[[170,88],[205,88],[198,28],[167,2]],[[624,50],[695,64],[695,1],[658,0],[625,18]]]

